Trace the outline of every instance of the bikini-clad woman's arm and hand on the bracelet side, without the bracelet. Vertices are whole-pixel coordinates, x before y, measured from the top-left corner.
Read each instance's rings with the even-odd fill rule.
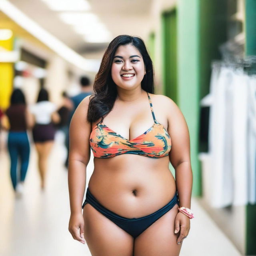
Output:
[[[192,193],[192,168],[190,162],[190,138],[186,120],[178,106],[166,97],[168,109],[168,133],[172,140],[169,159],[175,169],[176,188],[180,207],[190,208]],[[174,233],[180,234],[177,243],[182,242],[190,230],[190,219],[182,212],[178,212],[174,223]]]

